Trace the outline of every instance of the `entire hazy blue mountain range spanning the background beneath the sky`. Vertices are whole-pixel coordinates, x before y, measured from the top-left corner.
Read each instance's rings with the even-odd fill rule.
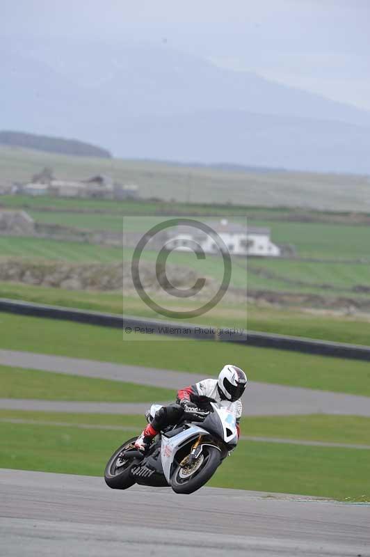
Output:
[[[168,45],[3,46],[3,128],[120,157],[370,172],[367,111]]]

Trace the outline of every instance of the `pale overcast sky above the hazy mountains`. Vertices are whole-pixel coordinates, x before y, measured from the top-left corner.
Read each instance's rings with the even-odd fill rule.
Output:
[[[370,110],[370,0],[0,0],[1,33],[167,42]]]

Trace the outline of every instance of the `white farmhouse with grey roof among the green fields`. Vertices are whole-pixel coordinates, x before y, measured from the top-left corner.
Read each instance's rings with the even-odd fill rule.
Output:
[[[271,242],[270,228],[243,226],[229,223],[226,219],[218,222],[207,222],[225,244],[230,254],[235,256],[280,256],[280,247]],[[221,242],[219,242],[220,244]],[[197,228],[178,226],[175,233],[166,242],[168,249],[176,251],[204,251],[204,253],[220,253],[221,246],[214,237],[203,233]]]

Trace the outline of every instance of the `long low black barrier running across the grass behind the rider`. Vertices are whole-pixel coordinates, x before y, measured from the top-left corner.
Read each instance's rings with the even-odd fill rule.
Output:
[[[332,343],[325,340],[315,340],[313,338],[259,333],[257,331],[248,331],[248,333],[233,336],[229,336],[227,334],[215,334],[210,337],[208,333],[202,334],[197,331],[197,326],[190,323],[145,320],[143,318],[129,316],[122,317],[122,315],[114,315],[111,313],[83,311],[73,308],[46,306],[44,304],[31,304],[26,301],[3,298],[0,298],[0,311],[17,313],[18,315],[31,315],[33,317],[47,317],[49,319],[74,321],[77,323],[99,325],[100,327],[113,327],[115,329],[123,329],[123,327],[131,327],[132,329],[135,327],[151,327],[154,329],[154,333],[161,330],[161,334],[163,334],[163,327],[175,327],[176,335],[186,336],[186,338],[215,340],[262,348],[293,350],[295,352],[304,352],[306,354],[320,354],[321,356],[335,356],[337,358],[370,361],[370,347],[345,343]],[[202,327],[206,328],[204,325]],[[173,334],[171,334],[171,336],[173,336]]]

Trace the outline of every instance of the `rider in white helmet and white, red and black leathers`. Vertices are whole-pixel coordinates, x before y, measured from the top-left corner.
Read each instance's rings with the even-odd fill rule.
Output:
[[[148,423],[143,433],[136,439],[135,447],[145,453],[150,447],[153,437],[163,430],[163,427],[176,425],[184,412],[196,414],[199,409],[210,409],[211,401],[234,412],[239,437],[242,411],[240,398],[246,385],[247,377],[243,370],[227,363],[220,371],[218,379],[203,379],[185,389],[180,389],[177,392],[176,404],[162,406],[156,411],[152,422]]]

